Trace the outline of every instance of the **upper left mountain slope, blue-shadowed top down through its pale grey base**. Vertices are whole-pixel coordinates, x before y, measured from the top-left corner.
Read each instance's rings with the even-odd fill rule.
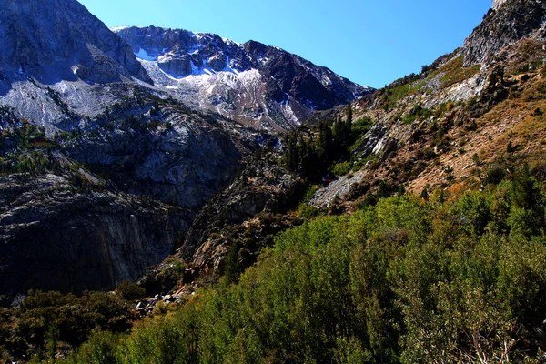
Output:
[[[133,82],[152,83],[131,47],[76,0],[0,6],[0,105],[48,134],[102,114],[131,95]],[[111,93],[109,85],[120,82],[127,88]]]

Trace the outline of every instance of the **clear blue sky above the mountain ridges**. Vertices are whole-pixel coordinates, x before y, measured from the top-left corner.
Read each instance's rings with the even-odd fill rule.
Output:
[[[382,87],[463,45],[492,0],[79,0],[108,26],[156,25],[276,45]]]

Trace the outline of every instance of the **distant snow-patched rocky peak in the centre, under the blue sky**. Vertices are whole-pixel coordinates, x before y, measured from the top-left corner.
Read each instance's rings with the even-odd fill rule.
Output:
[[[118,27],[154,84],[186,105],[247,126],[283,131],[315,110],[347,105],[373,90],[278,47],[219,35]]]

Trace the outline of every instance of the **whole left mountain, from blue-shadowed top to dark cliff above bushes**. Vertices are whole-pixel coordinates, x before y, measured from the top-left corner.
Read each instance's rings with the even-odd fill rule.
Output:
[[[268,136],[158,92],[74,0],[0,5],[0,296],[141,277]]]

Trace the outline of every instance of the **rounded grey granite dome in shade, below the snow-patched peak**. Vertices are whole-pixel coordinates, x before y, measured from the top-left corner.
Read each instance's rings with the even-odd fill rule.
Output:
[[[159,126],[150,126],[159,119]],[[116,170],[113,179],[127,192],[195,211],[235,176],[244,153],[235,136],[212,120],[176,108],[161,116],[118,119],[66,143],[66,154],[88,166]]]

